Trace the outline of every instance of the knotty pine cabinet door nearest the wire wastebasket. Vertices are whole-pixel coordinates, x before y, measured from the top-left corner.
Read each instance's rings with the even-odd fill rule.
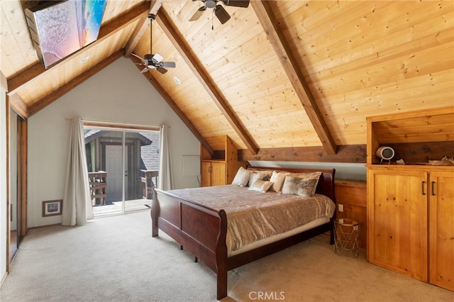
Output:
[[[421,281],[428,279],[427,173],[367,171],[368,259]]]

